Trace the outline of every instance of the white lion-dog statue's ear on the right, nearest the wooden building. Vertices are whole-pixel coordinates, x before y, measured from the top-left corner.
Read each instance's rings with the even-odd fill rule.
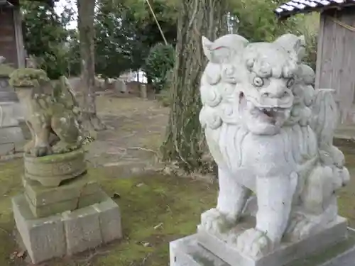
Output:
[[[287,33],[277,38],[274,43],[282,46],[288,52],[293,53],[299,62],[305,57],[306,43],[304,35],[297,36]]]

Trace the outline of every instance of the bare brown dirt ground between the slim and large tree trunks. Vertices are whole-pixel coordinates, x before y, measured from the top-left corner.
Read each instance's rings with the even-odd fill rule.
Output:
[[[99,117],[108,126],[89,145],[94,167],[117,166],[124,172],[154,167],[168,123],[168,109],[158,101],[138,97],[97,96]]]

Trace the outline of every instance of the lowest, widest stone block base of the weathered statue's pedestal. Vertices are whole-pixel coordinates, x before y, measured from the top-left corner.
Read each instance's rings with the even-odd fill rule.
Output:
[[[12,199],[13,215],[32,263],[73,255],[122,237],[119,206],[107,196],[99,204],[35,218],[23,194]]]

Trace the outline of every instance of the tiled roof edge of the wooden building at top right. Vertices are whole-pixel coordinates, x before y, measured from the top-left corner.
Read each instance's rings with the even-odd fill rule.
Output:
[[[285,18],[296,13],[307,13],[352,5],[355,5],[355,0],[291,0],[280,5],[274,12],[278,18]]]

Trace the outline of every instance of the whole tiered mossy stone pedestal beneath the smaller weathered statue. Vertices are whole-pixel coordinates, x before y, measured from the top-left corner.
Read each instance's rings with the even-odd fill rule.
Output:
[[[33,263],[121,238],[119,206],[87,176],[82,150],[24,159],[25,192],[12,205]]]

